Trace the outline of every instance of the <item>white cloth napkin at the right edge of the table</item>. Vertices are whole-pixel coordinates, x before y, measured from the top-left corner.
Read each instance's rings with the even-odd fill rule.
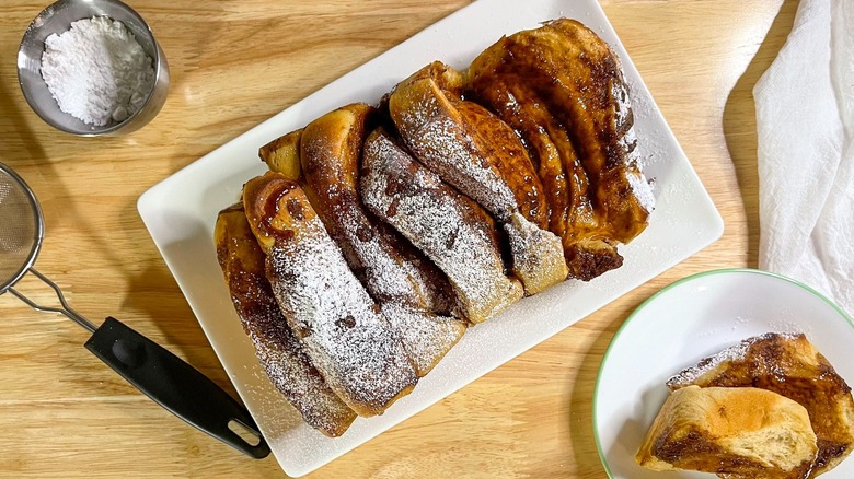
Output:
[[[759,267],[854,314],[854,1],[800,0],[753,97]]]

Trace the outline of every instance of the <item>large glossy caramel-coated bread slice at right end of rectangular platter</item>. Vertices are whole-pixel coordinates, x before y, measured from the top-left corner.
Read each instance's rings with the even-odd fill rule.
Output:
[[[654,199],[616,55],[562,19],[500,39],[473,61],[469,79],[475,101],[524,140],[570,276],[589,280],[621,266],[616,245],[646,227]]]

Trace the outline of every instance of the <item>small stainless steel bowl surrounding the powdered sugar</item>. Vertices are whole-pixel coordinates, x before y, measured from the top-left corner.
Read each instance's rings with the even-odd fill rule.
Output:
[[[112,121],[102,127],[88,125],[60,110],[42,78],[45,38],[68,31],[72,22],[93,16],[109,16],[124,23],[151,57],[154,67],[154,85],[142,107],[124,121]],[[169,90],[169,65],[151,28],[130,7],[118,0],[59,0],[43,10],[26,28],[18,51],[18,81],[33,110],[56,129],[89,137],[126,135],[151,121],[163,107]]]

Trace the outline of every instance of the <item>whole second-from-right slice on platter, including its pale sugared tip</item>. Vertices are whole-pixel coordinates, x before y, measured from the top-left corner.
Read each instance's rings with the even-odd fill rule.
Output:
[[[542,186],[510,127],[462,98],[462,77],[440,62],[394,89],[389,114],[425,166],[493,213],[510,236],[512,272],[526,293],[566,279],[561,238],[546,227]]]

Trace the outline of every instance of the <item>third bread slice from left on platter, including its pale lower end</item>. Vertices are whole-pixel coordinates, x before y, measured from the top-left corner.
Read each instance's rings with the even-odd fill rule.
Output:
[[[301,186],[422,377],[460,340],[465,323],[445,315],[454,303],[441,270],[359,199],[359,161],[373,115],[373,107],[354,103],[310,122],[300,142]]]

